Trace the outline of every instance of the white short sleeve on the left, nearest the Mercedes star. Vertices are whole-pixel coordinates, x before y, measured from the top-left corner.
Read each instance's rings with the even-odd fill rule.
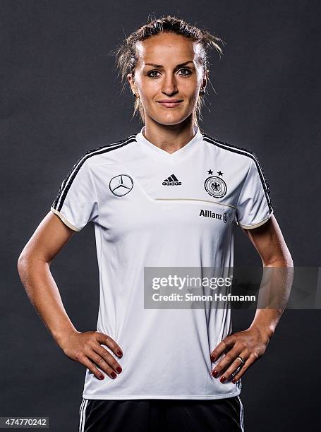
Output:
[[[63,179],[50,210],[74,231],[80,231],[87,222],[97,220],[97,193],[86,155],[75,162]]]

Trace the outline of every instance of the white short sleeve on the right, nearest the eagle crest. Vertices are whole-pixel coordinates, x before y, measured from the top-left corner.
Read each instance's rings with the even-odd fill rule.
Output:
[[[269,184],[258,158],[253,154],[236,205],[236,223],[244,229],[260,227],[272,213]]]

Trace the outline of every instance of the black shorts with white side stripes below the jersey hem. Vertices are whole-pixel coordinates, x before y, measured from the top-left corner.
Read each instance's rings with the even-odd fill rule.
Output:
[[[244,432],[239,396],[212,400],[83,399],[79,432]]]

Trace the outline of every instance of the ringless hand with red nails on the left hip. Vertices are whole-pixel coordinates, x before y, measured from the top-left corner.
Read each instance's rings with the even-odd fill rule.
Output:
[[[115,371],[121,373],[121,365],[101,344],[107,345],[119,358],[123,356],[123,352],[119,345],[104,333],[97,331],[82,333],[75,330],[68,332],[68,335],[64,335],[59,341],[57,340],[57,343],[69,359],[86,366],[99,380],[104,379],[104,375],[96,365],[112,379],[117,376]]]

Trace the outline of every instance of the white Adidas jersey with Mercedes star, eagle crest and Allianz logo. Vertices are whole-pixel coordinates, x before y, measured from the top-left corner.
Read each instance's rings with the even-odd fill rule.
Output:
[[[220,383],[210,359],[231,333],[230,309],[144,308],[144,267],[233,267],[234,222],[250,229],[272,215],[267,180],[253,152],[197,127],[172,154],[150,143],[144,127],[85,152],[51,207],[75,231],[95,223],[97,331],[123,349],[121,359],[112,353],[123,368],[115,379],[104,373],[99,380],[86,369],[83,397],[238,395],[241,380]]]

